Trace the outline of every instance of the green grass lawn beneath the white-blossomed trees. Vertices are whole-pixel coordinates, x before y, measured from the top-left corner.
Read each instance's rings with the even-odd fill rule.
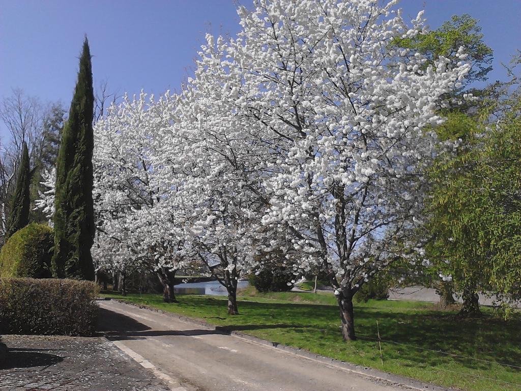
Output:
[[[225,297],[180,295],[178,304],[164,303],[162,296],[151,294],[129,294],[124,299],[443,386],[473,391],[521,390],[521,368],[515,368],[521,366],[519,314],[503,321],[486,309],[482,319],[462,320],[453,312],[437,311],[432,303],[355,303],[359,339],[344,343],[338,308],[330,294],[258,294],[252,289],[242,294],[255,296],[241,296],[240,315],[235,316],[227,315]],[[385,340],[383,365],[376,340],[377,320],[380,337]]]

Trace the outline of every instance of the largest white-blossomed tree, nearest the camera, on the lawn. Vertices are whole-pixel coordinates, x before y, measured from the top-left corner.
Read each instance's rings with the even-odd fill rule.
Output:
[[[396,46],[424,31],[396,3],[256,1],[237,39],[208,37],[196,74],[208,93],[194,115],[242,142],[222,163],[265,206],[258,250],[285,246],[302,270],[325,270],[349,340],[355,292],[414,248],[438,98],[468,71]]]

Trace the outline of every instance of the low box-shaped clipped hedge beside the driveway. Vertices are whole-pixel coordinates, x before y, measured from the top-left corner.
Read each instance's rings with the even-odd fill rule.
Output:
[[[0,279],[0,334],[92,335],[98,287],[71,279]]]

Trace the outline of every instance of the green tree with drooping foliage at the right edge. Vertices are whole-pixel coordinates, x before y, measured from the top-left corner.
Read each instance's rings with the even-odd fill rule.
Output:
[[[505,304],[521,298],[519,84],[513,76],[499,90],[494,85],[480,117],[453,113],[439,129],[448,140],[457,135],[462,146],[431,173],[429,230],[435,240],[429,255],[462,291],[465,315],[479,313],[478,288]]]

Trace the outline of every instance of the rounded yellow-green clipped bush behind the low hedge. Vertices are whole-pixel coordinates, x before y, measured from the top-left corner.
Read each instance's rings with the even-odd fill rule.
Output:
[[[0,277],[51,277],[53,229],[31,223],[18,230],[0,251]]]

